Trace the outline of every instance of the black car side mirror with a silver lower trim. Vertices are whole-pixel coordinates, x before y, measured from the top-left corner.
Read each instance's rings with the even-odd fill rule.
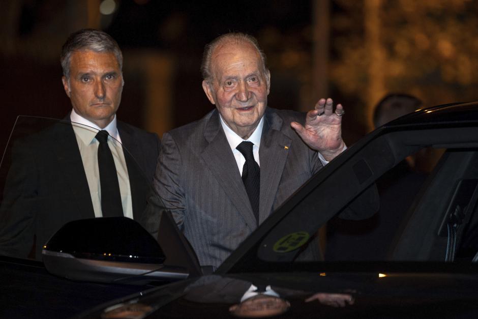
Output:
[[[156,239],[126,217],[71,221],[44,245],[42,255],[48,272],[80,281],[145,284],[191,273],[187,265],[167,263]]]

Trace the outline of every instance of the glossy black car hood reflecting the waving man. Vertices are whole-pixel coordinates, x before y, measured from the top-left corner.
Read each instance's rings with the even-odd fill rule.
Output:
[[[478,277],[436,266],[428,272],[208,275],[158,287],[139,298],[117,300],[82,316],[234,317],[231,309],[241,300],[262,294],[288,305],[281,317],[475,317]],[[254,295],[257,287],[265,289]]]

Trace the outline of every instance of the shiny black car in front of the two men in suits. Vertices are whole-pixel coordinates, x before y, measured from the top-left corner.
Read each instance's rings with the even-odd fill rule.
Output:
[[[424,155],[427,168],[419,169],[417,162]],[[327,164],[214,273],[198,267],[169,219],[165,231],[177,237],[186,257],[174,256],[176,250],[171,252],[160,239],[165,260],[144,271],[144,276],[137,272],[125,276],[124,271],[115,275],[96,268],[97,281],[124,283],[134,278],[143,285],[137,285],[131,296],[70,314],[102,318],[476,317],[477,186],[478,103],[419,110],[373,131]],[[376,215],[362,221],[336,217],[370,187],[377,187],[380,195]],[[308,258],[312,241],[319,241],[323,260]],[[64,240],[60,237],[57,242]],[[70,255],[98,263],[94,254],[88,259],[88,252],[82,253],[72,250]],[[91,267],[55,258],[44,259],[50,271],[88,280]],[[26,266],[16,260],[11,269],[20,274]],[[177,274],[171,279],[176,281],[151,287],[163,278],[164,264],[176,267],[176,271],[169,269]],[[65,287],[81,284],[51,278]],[[125,287],[98,285],[118,287],[117,291]],[[62,294],[59,290],[57,295]]]

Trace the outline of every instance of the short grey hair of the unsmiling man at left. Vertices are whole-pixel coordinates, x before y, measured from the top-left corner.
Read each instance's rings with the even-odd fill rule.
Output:
[[[72,33],[62,47],[60,62],[62,63],[63,75],[70,79],[70,59],[73,52],[91,50],[101,53],[113,53],[123,70],[123,54],[118,44],[110,35],[95,29],[82,29]]]

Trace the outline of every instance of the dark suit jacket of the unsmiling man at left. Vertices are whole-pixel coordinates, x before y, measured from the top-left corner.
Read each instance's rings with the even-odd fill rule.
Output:
[[[125,150],[133,217],[139,220],[156,168],[160,140],[157,134],[119,121],[117,129]],[[35,256],[41,259],[42,246],[62,225],[94,217],[71,123],[58,122],[14,145],[0,208],[0,253],[26,257],[35,236]]]

